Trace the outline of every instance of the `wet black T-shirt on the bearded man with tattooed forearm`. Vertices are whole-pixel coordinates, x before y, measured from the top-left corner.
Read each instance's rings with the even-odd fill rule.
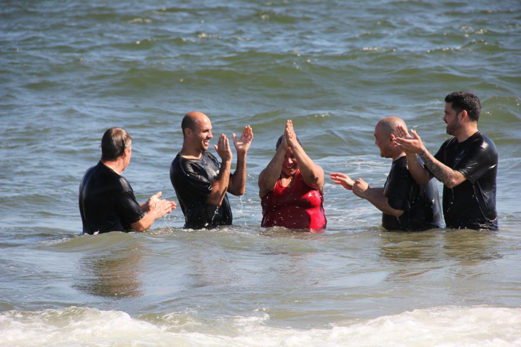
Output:
[[[454,188],[443,186],[445,224],[453,229],[498,229],[495,210],[498,150],[477,132],[462,143],[451,137],[435,158],[467,179]]]

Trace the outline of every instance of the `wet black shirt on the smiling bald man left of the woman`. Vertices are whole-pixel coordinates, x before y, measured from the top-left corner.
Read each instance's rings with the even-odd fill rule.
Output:
[[[208,151],[203,151],[201,159],[183,158],[178,153],[172,161],[170,181],[184,214],[185,228],[210,229],[232,223],[226,194],[220,207],[206,203],[219,168],[219,162]]]

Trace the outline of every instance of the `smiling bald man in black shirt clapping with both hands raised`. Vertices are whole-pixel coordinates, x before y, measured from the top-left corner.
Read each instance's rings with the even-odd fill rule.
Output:
[[[250,125],[244,127],[238,140],[233,134],[237,150],[237,168],[230,173],[232,152],[229,140],[221,134],[214,145],[221,164],[208,152],[213,138],[212,123],[202,112],[187,113],[182,122],[183,147],[170,166],[170,181],[176,190],[185,219],[185,228],[215,228],[230,225],[232,213],[226,192],[243,195],[246,185],[246,153],[253,139]]]

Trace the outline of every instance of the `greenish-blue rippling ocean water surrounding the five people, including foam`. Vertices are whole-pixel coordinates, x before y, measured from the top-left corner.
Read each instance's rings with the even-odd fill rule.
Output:
[[[7,0],[0,18],[0,345],[521,345],[519,1]],[[324,233],[259,226],[286,119],[326,173],[376,187],[376,122],[399,115],[436,152],[456,90],[499,151],[498,232],[387,232],[329,178]],[[179,208],[79,236],[103,132],[131,134],[139,201],[177,201],[192,110],[214,135],[253,127],[234,225],[185,230]]]

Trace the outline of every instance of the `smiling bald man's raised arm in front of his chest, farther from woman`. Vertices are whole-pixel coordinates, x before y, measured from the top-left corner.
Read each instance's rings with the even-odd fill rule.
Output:
[[[212,191],[206,198],[205,202],[212,206],[220,206],[222,199],[224,199],[226,195],[226,190],[228,189],[230,181],[232,153],[228,138],[225,134],[221,134],[217,142],[217,146],[214,145],[214,147],[217,150],[217,154],[221,158],[221,167],[219,169],[217,178],[212,184]]]

